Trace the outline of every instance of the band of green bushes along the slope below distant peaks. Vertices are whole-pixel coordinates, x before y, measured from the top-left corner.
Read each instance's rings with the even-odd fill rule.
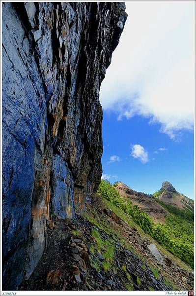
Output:
[[[176,216],[167,217],[165,225],[155,224],[148,214],[141,211],[137,205],[133,206],[131,202],[126,202],[120,197],[119,192],[109,181],[101,181],[98,193],[128,214],[145,233],[156,239],[169,252],[188,263],[192,268],[194,267],[194,227],[191,232],[188,222],[185,221],[184,225],[180,224],[182,219],[175,214]],[[174,212],[173,209],[172,211]],[[185,215],[185,212],[182,215]]]

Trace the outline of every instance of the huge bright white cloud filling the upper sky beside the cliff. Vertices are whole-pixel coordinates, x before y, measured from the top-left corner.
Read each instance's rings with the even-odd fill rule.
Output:
[[[100,101],[118,120],[160,123],[174,139],[194,122],[194,3],[126,2],[128,19]],[[167,20],[167,21],[166,21]]]

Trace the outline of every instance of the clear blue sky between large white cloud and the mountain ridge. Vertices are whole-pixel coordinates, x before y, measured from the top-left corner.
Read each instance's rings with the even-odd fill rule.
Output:
[[[159,124],[148,122],[141,116],[118,121],[115,113],[104,111],[102,166],[103,174],[107,175],[104,178],[112,183],[122,181],[132,189],[151,194],[161,188],[163,181],[169,181],[177,191],[193,198],[193,132],[184,131],[179,141],[173,141],[160,133]],[[147,152],[146,163],[131,156],[136,144]],[[119,158],[110,161],[111,156]]]

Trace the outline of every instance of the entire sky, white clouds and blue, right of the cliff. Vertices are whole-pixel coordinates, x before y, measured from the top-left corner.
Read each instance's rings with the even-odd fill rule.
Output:
[[[194,3],[126,7],[100,91],[103,178],[146,193],[169,181],[194,198]]]

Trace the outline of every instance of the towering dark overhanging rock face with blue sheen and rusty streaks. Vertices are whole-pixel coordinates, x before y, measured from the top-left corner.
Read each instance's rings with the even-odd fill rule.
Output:
[[[51,214],[98,188],[99,88],[126,17],[117,2],[2,4],[4,290],[37,265]]]

